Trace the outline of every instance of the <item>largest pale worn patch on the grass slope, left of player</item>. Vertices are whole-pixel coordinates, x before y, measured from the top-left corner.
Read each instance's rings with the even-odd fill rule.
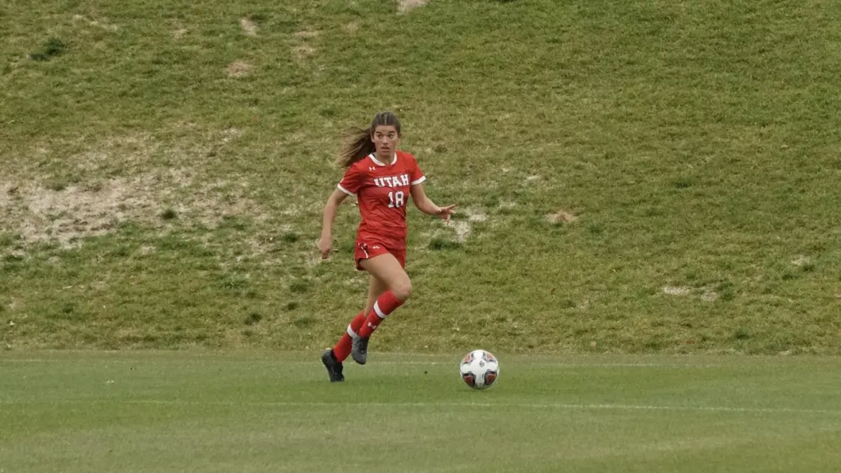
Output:
[[[216,132],[208,146],[222,146],[240,135],[241,130],[235,128]],[[66,167],[90,179],[86,182],[56,184],[50,176],[38,177],[34,169],[12,169],[17,175],[0,175],[2,229],[24,242],[76,247],[81,238],[107,234],[124,221],[151,228],[176,221],[180,226],[214,228],[227,215],[247,215],[257,221],[267,215],[248,197],[246,178],[198,181],[196,177],[203,176],[199,168],[156,167],[153,156],[161,154],[181,162],[185,157],[204,156],[200,149],[162,146],[151,138],[133,136],[102,141],[94,149],[60,157]],[[165,210],[174,212],[173,218],[163,218]]]

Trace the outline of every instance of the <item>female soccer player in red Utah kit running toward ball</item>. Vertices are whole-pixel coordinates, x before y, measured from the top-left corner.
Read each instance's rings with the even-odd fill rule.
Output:
[[[348,195],[356,195],[362,221],[353,258],[357,269],[371,277],[365,309],[353,318],[336,346],[321,355],[331,381],[345,380],[342,362],[348,354],[358,364],[365,364],[368,338],[411,295],[412,284],[405,272],[407,195],[411,194],[418,210],[444,220],[449,220],[455,208],[439,207],[426,196],[426,177],[415,157],[397,151],[401,136],[397,115],[376,114],[367,129],[352,133],[337,160],[346,172],[327,199],[318,249],[321,258],[328,257],[336,210]]]

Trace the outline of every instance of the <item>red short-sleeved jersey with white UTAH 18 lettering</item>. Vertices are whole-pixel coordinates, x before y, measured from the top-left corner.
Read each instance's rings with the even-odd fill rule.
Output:
[[[394,162],[388,165],[372,153],[348,167],[338,187],[357,196],[362,215],[357,240],[380,242],[392,249],[405,248],[410,187],[424,180],[415,157],[404,151],[397,151]]]

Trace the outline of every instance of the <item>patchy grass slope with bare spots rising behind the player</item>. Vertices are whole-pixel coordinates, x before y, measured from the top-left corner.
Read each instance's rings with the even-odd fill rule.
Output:
[[[315,251],[331,157],[394,109],[461,215],[410,211],[383,349],[841,353],[837,2],[396,12],[5,8],[3,346],[333,343],[366,281],[352,206]]]

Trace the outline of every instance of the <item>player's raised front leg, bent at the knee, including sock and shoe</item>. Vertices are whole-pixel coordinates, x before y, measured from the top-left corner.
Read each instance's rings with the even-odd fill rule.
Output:
[[[392,254],[363,259],[359,265],[389,288],[374,301],[373,310],[357,332],[358,337],[353,337],[351,356],[358,364],[365,364],[368,361],[368,338],[385,317],[409,299],[412,294],[412,284],[409,275]]]

